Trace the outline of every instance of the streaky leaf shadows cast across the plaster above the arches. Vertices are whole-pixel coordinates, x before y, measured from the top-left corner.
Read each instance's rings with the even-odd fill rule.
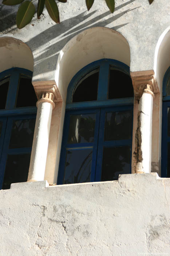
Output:
[[[124,6],[130,3],[133,3],[134,1],[136,0],[130,0],[130,1],[127,1],[126,3],[119,5],[118,7],[115,8],[115,11],[118,11],[119,9],[123,8]],[[0,5],[0,8],[3,9],[3,6]],[[60,50],[62,50],[64,45],[66,45],[66,43],[71,38],[73,38],[76,34],[80,33],[85,29],[89,29],[91,27],[106,27],[108,24],[119,19],[124,14],[130,11],[133,11],[137,8],[139,7],[122,11],[116,15],[113,14],[113,16],[110,13],[110,11],[107,11],[91,19],[90,17],[94,15],[97,11],[93,11],[90,13],[82,12],[81,14],[73,18],[64,20],[63,22],[60,23],[60,25],[55,24],[54,26],[44,30],[42,33],[33,37],[31,40],[25,42],[31,48],[34,54],[34,71],[36,76],[42,73],[45,74],[47,71],[56,70],[56,63],[57,63],[58,54]],[[109,18],[107,18],[107,16],[109,16]],[[7,21],[5,23],[4,23],[4,17],[5,17],[5,20]],[[9,32],[12,33],[12,30],[16,30],[16,29],[10,29],[11,26],[14,25],[15,23],[15,17],[16,17],[16,12],[8,15],[7,10],[5,10],[5,13],[0,18],[0,28],[1,28],[0,32],[3,30],[5,33],[9,33]],[[88,21],[86,21],[87,19]],[[79,25],[82,22],[83,24]],[[3,25],[1,26],[1,24]],[[126,26],[127,24],[128,23],[124,23],[124,24],[110,27],[110,28],[114,30],[118,30],[121,27]],[[39,48],[38,53],[36,53],[37,45]]]

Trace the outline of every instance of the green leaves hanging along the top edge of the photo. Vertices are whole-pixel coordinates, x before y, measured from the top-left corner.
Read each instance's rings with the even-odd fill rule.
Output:
[[[66,3],[67,0],[58,0],[59,2]],[[92,7],[94,0],[85,0],[87,10],[89,11]],[[111,13],[114,12],[115,9],[115,0],[105,0],[106,4],[111,11]],[[154,0],[148,0],[151,4]],[[3,0],[3,4],[5,5],[17,5],[21,4],[19,6],[19,9],[17,11],[16,15],[16,25],[19,29],[22,29],[25,27],[33,18],[33,15],[35,14],[35,6],[32,3],[32,0]],[[37,7],[37,18],[40,18],[40,15],[42,14],[44,10],[44,5],[46,5],[48,14],[50,15],[51,19],[54,20],[56,23],[60,23],[59,18],[59,9],[55,2],[55,0],[38,0],[38,7]]]

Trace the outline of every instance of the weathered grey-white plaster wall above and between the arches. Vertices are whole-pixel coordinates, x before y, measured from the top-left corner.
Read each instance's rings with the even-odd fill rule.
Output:
[[[40,20],[35,15],[30,24],[18,30],[15,25],[18,6],[0,4],[0,36],[21,39],[31,48],[34,80],[54,80],[58,54],[64,45],[83,30],[99,26],[114,29],[127,39],[131,71],[153,69],[155,47],[169,26],[169,0],[154,0],[151,5],[148,0],[117,0],[114,14],[104,0],[95,1],[89,12],[84,0],[68,0],[58,5],[60,25],[55,24],[44,9]]]

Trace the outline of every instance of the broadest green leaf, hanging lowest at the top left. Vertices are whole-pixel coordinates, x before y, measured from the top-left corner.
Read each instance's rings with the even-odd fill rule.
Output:
[[[25,27],[35,14],[35,6],[30,1],[22,3],[17,11],[16,25],[19,29]]]

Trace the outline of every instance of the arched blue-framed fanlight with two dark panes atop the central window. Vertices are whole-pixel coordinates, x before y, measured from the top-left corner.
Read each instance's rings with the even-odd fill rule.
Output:
[[[68,104],[133,97],[129,67],[110,59],[94,61],[82,68],[67,90]]]

